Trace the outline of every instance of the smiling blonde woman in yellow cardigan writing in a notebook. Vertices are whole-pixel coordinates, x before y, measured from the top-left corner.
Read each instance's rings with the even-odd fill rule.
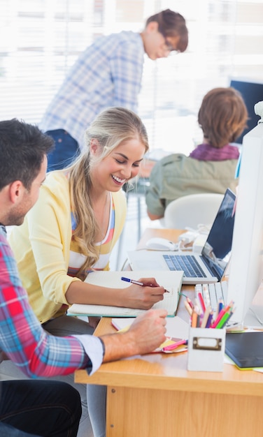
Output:
[[[108,269],[125,223],[122,186],[138,175],[148,151],[148,137],[134,112],[108,108],[86,131],[86,146],[69,168],[48,174],[38,202],[10,235],[29,302],[44,329],[59,336],[92,333],[96,325],[93,319],[90,326],[66,316],[73,303],[150,309],[164,295],[164,288],[153,278],[142,279],[149,283],[143,288],[133,284],[114,289],[83,282],[90,269]],[[90,417],[94,427],[99,422],[103,429],[95,429],[94,435],[101,436],[104,393],[98,395],[98,387],[94,390],[92,406],[102,402],[94,414],[103,418],[92,419],[92,413]],[[84,399],[83,392],[80,394]]]

